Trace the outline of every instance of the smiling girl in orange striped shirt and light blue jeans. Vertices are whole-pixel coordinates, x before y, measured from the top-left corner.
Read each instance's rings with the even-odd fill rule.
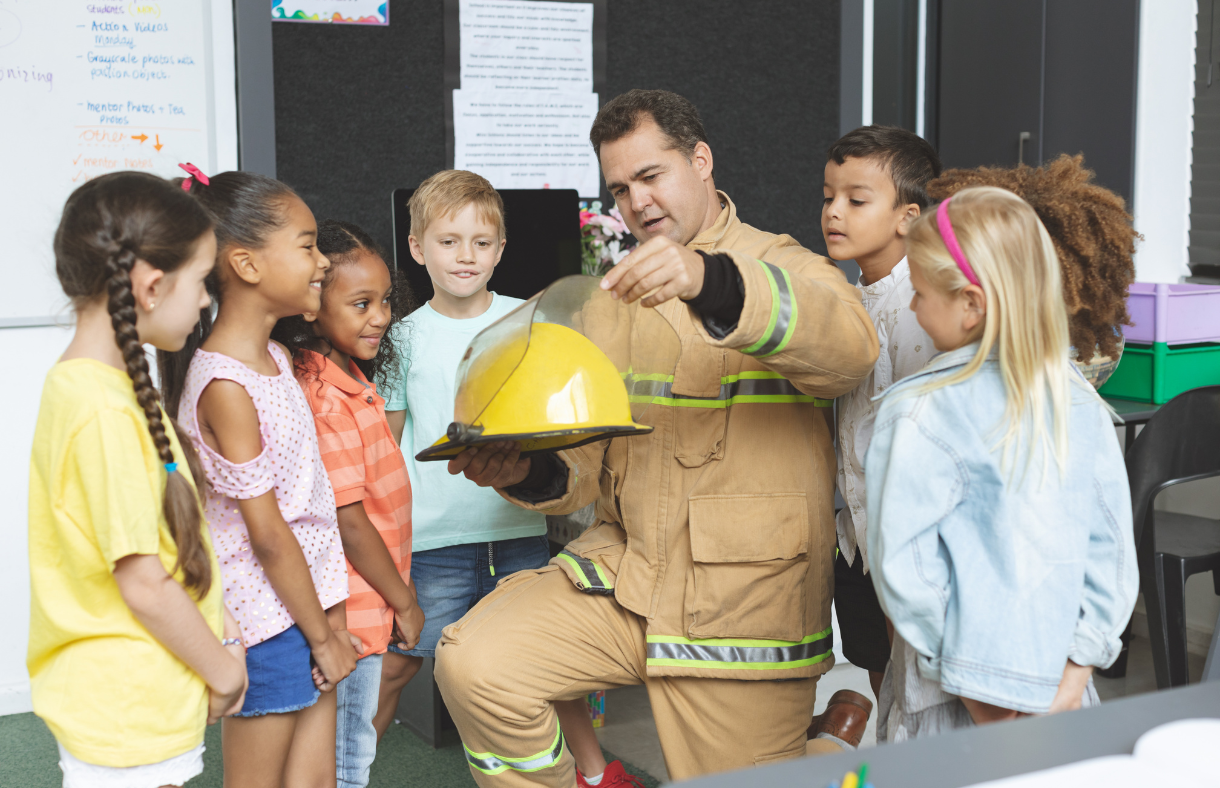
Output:
[[[322,306],[281,320],[272,337],[293,350],[334,487],[351,594],[348,631],[364,644],[338,688],[336,765],[340,788],[362,787],[377,754],[382,661],[404,659],[387,647],[415,648],[423,627],[411,584],[411,483],[377,393],[377,383],[398,376],[386,334],[410,311],[411,294],[362,229],[327,220],[317,231],[318,251],[331,261]]]

